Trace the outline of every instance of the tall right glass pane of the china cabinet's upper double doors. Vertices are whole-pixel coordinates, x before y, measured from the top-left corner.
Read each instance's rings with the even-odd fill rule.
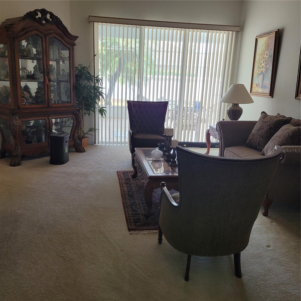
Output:
[[[70,49],[55,37],[48,38],[50,104],[70,104]]]

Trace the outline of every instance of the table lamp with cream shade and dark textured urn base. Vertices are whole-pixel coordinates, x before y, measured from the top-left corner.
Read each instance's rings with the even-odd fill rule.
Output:
[[[238,120],[243,113],[239,104],[251,104],[254,101],[243,84],[233,84],[222,97],[221,102],[232,104],[227,109],[228,117],[230,120]]]

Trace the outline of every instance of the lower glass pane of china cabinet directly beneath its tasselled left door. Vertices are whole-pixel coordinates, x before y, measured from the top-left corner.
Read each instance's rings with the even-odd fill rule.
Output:
[[[21,141],[23,145],[48,143],[46,119],[21,120]]]

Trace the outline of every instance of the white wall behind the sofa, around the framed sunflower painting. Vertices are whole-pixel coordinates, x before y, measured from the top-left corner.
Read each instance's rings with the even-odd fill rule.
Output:
[[[281,113],[300,119],[299,100],[295,100],[300,53],[300,1],[243,1],[241,14],[242,39],[237,83],[249,91],[255,37],[280,29],[278,67],[273,98],[252,96],[253,104],[241,105],[241,120],[258,120],[262,111]]]

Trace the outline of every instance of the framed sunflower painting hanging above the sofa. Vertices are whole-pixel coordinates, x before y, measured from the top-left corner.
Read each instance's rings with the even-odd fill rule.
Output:
[[[250,94],[273,97],[279,29],[256,36]]]

